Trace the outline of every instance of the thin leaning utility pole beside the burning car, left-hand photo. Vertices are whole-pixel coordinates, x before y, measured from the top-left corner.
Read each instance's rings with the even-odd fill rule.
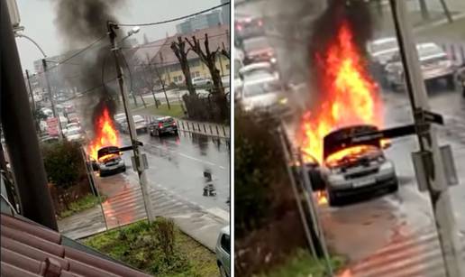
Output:
[[[132,164],[134,165],[134,170],[137,171],[137,175],[139,176],[139,182],[141,184],[141,191],[142,191],[142,198],[145,206],[145,211],[147,212],[147,218],[149,222],[152,222],[154,217],[151,210],[150,205],[150,196],[148,191],[148,181],[147,175],[145,173],[145,165],[143,162],[143,155],[141,154],[141,150],[139,149],[139,142],[137,141],[137,132],[134,125],[134,119],[132,118],[132,111],[128,108],[128,96],[124,91],[124,80],[123,80],[123,69],[121,69],[120,61],[118,59],[118,51],[120,49],[116,45],[116,33],[114,29],[118,29],[118,25],[112,22],[107,22],[106,26],[108,28],[108,37],[110,39],[110,43],[112,45],[111,51],[114,54],[114,65],[116,67],[116,73],[118,78],[118,85],[120,87],[121,96],[123,97],[123,106],[124,106],[124,113],[126,114],[126,120],[128,123],[129,128],[129,135],[131,137],[131,144],[132,144],[132,152],[134,152],[134,156]]]

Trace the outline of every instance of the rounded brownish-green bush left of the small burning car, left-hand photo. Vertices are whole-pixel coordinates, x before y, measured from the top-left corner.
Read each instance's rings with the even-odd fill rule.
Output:
[[[80,145],[65,140],[42,146],[43,162],[50,183],[68,189],[86,178]]]

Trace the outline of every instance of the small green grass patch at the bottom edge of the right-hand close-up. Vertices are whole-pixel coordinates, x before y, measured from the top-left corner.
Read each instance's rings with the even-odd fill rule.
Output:
[[[333,258],[333,271],[336,272],[342,267],[342,258]],[[278,266],[272,267],[268,272],[263,272],[256,277],[324,277],[324,261],[318,263],[312,255],[303,249],[299,249],[295,254],[290,255],[287,261]]]

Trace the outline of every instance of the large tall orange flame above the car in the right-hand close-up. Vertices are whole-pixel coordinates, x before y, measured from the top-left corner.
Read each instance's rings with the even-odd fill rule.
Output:
[[[326,134],[346,125],[383,125],[378,85],[369,76],[367,64],[353,40],[350,24],[343,22],[337,37],[324,53],[316,53],[321,73],[318,89],[324,93],[314,113],[303,116],[302,149],[323,160]]]

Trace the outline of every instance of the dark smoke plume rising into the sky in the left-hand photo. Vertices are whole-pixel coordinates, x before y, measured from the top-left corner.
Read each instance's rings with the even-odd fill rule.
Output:
[[[54,23],[59,36],[64,40],[71,54],[79,51],[107,33],[107,21],[117,22],[114,11],[124,4],[123,0],[52,0],[56,9]],[[122,38],[122,32],[117,39]],[[103,108],[114,115],[117,104],[115,70],[109,39],[105,37],[89,50],[71,61],[78,63],[78,78],[69,80],[79,91],[87,91],[87,105],[83,114],[96,128],[96,118]],[[104,86],[104,81],[114,79]]]

